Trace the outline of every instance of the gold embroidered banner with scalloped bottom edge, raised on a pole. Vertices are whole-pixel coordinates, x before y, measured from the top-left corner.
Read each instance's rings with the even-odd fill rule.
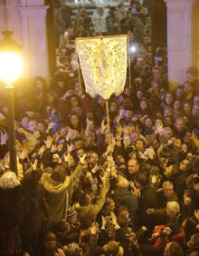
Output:
[[[126,35],[77,38],[76,50],[86,92],[109,99],[121,94],[127,76],[128,38]]]

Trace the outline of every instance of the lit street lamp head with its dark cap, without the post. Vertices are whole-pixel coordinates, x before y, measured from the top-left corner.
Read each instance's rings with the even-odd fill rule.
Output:
[[[11,38],[12,31],[4,31],[2,34],[4,38],[0,41],[0,79],[10,88],[22,74],[22,46]]]

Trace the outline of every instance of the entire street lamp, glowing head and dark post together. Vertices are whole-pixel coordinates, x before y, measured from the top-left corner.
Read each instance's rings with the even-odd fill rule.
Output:
[[[7,91],[10,170],[17,172],[13,82],[22,73],[22,46],[11,37],[12,31],[3,31],[2,34],[4,38],[0,41],[0,79],[5,81]]]

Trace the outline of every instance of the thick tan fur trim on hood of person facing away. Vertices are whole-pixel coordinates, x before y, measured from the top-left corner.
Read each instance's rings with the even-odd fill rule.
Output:
[[[51,174],[43,173],[41,178],[41,183],[43,185],[43,189],[47,192],[58,194],[66,190],[71,183],[70,177],[66,177],[64,182],[55,182],[52,179]]]

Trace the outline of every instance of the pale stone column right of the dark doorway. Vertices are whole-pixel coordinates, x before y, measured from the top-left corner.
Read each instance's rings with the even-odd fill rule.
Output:
[[[185,82],[192,65],[192,7],[194,0],[165,0],[167,7],[168,79]],[[158,14],[157,14],[158,15]]]

